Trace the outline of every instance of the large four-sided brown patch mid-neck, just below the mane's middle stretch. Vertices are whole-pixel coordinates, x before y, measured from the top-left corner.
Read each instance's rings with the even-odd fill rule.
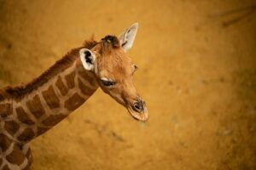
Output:
[[[42,94],[43,94],[44,100],[46,101],[47,105],[49,105],[50,109],[55,109],[60,107],[60,99],[55,94],[55,89],[52,86],[50,86]]]

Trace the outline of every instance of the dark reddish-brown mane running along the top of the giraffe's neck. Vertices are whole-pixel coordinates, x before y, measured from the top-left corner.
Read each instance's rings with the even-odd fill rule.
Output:
[[[6,87],[0,89],[0,101],[3,99],[19,99],[25,94],[29,94],[33,89],[36,89],[42,86],[45,82],[48,82],[50,78],[55,77],[59,72],[66,70],[68,67],[73,65],[73,62],[79,56],[79,50],[81,48],[93,48],[96,46],[97,42],[91,38],[90,41],[85,41],[83,46],[80,48],[73,48],[70,52],[68,52],[62,59],[59,59],[52,65],[47,71],[44,71],[39,77],[32,80],[32,82],[28,82],[25,85],[20,85],[16,87]]]

